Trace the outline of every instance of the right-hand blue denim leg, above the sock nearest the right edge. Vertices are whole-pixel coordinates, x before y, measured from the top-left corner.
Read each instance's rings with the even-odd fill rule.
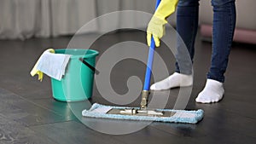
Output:
[[[235,0],[212,0],[212,61],[207,78],[224,83],[236,26]]]

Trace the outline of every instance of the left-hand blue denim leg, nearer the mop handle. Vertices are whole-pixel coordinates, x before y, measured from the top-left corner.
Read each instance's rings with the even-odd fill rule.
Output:
[[[177,3],[177,33],[182,39],[177,38],[176,72],[192,73],[195,37],[198,27],[198,9],[199,0],[180,0]],[[187,48],[184,49],[184,46]]]

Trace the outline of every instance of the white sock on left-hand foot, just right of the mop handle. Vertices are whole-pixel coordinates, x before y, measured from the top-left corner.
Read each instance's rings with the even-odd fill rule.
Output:
[[[163,90],[163,89],[172,89],[176,87],[185,87],[193,84],[192,75],[186,75],[174,72],[168,78],[152,84],[150,89],[152,90]]]

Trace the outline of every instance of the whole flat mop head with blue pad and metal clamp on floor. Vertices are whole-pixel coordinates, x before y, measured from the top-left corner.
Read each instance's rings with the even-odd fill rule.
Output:
[[[82,112],[84,117],[143,120],[169,123],[196,124],[203,118],[203,110],[185,111],[155,109],[141,111],[139,107],[112,107],[95,103],[89,110]]]

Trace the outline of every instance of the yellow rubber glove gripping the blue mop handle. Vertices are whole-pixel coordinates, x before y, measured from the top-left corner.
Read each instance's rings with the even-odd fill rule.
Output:
[[[158,8],[154,12],[153,17],[148,23],[147,42],[148,46],[151,43],[153,35],[156,47],[160,46],[160,38],[165,34],[166,18],[175,12],[178,0],[161,0]]]

